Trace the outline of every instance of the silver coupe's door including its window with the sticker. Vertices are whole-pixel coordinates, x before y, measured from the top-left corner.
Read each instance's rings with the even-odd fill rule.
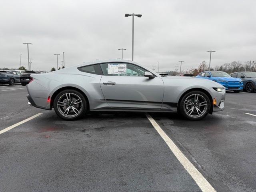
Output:
[[[148,71],[130,63],[100,64],[103,76],[100,87],[112,108],[160,109],[164,83],[158,76],[148,78]]]

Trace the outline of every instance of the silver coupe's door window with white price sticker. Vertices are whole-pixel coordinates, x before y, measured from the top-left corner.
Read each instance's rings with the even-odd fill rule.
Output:
[[[144,76],[147,71],[130,63],[103,63],[100,66],[103,75],[109,76]]]

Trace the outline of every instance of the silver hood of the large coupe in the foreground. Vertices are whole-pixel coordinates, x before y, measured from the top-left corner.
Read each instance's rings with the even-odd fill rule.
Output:
[[[203,78],[192,78],[192,77],[181,77],[181,76],[166,76],[161,77],[164,81],[165,85],[173,85],[175,86],[195,86],[195,87],[204,87],[204,88],[213,88],[213,87],[219,87],[224,88],[221,84],[209,80],[209,79],[203,79]]]

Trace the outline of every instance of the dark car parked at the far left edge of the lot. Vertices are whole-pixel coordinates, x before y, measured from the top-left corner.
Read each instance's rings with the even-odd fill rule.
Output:
[[[7,71],[0,73],[0,84],[14,85],[14,83],[20,82],[20,72],[18,71]]]

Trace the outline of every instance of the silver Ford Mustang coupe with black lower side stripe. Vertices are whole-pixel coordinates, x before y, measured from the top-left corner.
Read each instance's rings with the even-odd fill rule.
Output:
[[[65,120],[89,111],[178,112],[190,120],[224,109],[224,86],[205,79],[161,76],[128,60],[104,60],[32,74],[28,104]]]

